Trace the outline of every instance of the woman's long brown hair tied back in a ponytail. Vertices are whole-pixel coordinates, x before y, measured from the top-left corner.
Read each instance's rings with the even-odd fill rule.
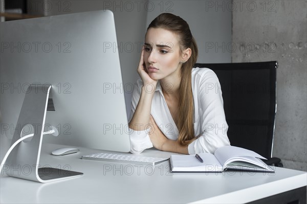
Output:
[[[187,22],[179,16],[162,13],[151,21],[149,28],[162,28],[179,36],[181,51],[190,48],[191,57],[181,66],[181,82],[179,87],[179,120],[178,141],[181,145],[188,145],[195,139],[193,127],[193,94],[191,71],[198,57],[198,48]]]

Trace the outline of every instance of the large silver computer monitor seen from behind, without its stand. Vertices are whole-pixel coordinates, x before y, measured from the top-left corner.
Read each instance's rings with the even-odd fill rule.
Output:
[[[111,11],[7,21],[0,28],[2,133],[12,138],[14,131],[21,132],[25,124],[17,119],[30,84],[32,93],[50,84],[45,128],[55,126],[59,135],[45,136],[44,142],[130,150]]]

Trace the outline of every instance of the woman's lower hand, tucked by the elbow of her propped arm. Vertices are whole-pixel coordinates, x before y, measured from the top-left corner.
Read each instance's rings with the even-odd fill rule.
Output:
[[[163,150],[162,149],[163,144],[165,144],[168,139],[165,137],[163,132],[160,130],[155,120],[153,120],[152,116],[150,116],[149,123],[150,123],[151,129],[148,134],[149,134],[149,138],[150,138],[150,141],[153,147],[159,150]]]

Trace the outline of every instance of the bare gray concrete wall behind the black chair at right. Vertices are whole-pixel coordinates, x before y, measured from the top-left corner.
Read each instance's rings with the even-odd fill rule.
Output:
[[[232,42],[237,46],[231,51],[232,62],[279,62],[273,156],[286,168],[307,171],[306,1],[233,5]]]

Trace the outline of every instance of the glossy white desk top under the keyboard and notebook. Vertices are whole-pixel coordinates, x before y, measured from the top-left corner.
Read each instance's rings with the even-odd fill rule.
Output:
[[[53,156],[59,145],[43,144],[42,167],[83,172],[84,175],[41,184],[1,176],[1,203],[244,203],[306,186],[306,172],[275,168],[275,173],[170,173],[168,162],[155,168],[81,160],[97,150]],[[168,157],[170,152],[154,149],[142,155]],[[22,168],[19,170],[21,173]],[[25,170],[26,171],[26,170]],[[245,196],[244,196],[245,195]]]

